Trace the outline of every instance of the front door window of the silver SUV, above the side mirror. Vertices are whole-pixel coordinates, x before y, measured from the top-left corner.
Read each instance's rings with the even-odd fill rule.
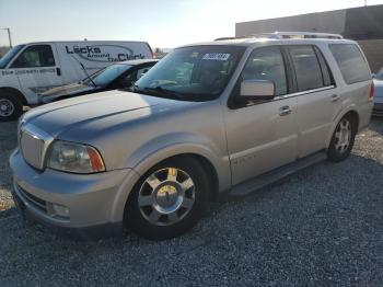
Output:
[[[248,57],[241,80],[268,80],[276,85],[276,95],[287,94],[283,57],[279,47],[257,48]]]

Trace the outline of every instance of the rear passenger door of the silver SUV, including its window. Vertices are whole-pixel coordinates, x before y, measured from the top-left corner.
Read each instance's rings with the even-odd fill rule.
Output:
[[[318,47],[297,45],[288,46],[287,50],[295,73],[299,157],[305,157],[326,147],[333,120],[341,110],[341,101]]]

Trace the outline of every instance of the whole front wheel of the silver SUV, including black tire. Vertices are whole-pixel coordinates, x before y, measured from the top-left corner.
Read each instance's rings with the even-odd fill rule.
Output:
[[[192,157],[164,161],[148,171],[135,186],[125,222],[151,240],[181,236],[192,229],[208,204],[208,177]]]

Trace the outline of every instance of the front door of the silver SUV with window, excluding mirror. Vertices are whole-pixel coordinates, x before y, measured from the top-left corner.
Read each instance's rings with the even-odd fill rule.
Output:
[[[241,100],[243,80],[272,81],[275,99]],[[297,159],[297,97],[289,95],[287,66],[279,46],[253,50],[229,100],[224,120],[233,184]]]

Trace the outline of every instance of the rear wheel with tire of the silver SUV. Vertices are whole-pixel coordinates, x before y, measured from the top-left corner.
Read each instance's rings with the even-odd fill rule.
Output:
[[[346,115],[335,128],[327,150],[327,159],[334,162],[345,160],[351,153],[356,135],[355,120],[350,115]]]

